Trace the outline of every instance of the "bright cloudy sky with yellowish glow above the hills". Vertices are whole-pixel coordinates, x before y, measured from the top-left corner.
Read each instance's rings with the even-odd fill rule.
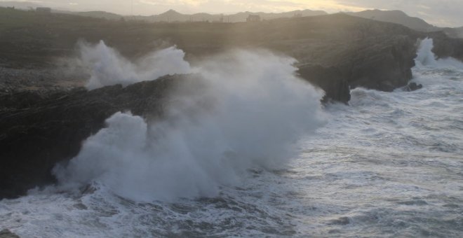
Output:
[[[1,0],[4,1],[4,0]],[[9,0],[11,1],[11,0]],[[119,14],[153,15],[169,9],[181,13],[281,12],[297,9],[358,11],[403,10],[439,27],[463,26],[463,0],[29,0],[67,10],[106,10]]]

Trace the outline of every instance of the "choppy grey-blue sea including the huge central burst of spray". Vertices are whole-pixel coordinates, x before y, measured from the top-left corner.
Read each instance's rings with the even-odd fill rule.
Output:
[[[164,125],[149,129],[141,118],[119,113],[104,133],[88,139],[72,165],[55,168],[58,186],[1,200],[0,228],[21,237],[463,237],[463,64],[436,59],[431,48],[431,39],[422,41],[413,69],[422,89],[356,88],[349,106],[322,108],[312,87],[289,97],[301,85],[271,80],[264,90],[279,99],[271,104],[264,103],[266,94],[255,97],[254,83],[227,84],[220,97],[206,94],[233,116],[198,118],[173,110],[170,119],[181,118],[175,128],[182,132]],[[253,59],[240,55],[231,59]],[[256,62],[262,58],[254,56]],[[293,71],[287,59],[265,58],[268,64],[252,65],[253,71],[262,68],[253,78],[267,78],[280,64],[277,75]],[[248,73],[249,67],[205,65],[206,78],[227,70]],[[236,96],[236,87],[253,93]],[[298,103],[309,99],[307,107]],[[277,119],[248,118],[253,108],[246,102],[274,112],[260,112],[264,118]],[[273,128],[288,121],[304,133]],[[244,128],[237,130],[239,125]],[[152,148],[146,135],[153,130],[175,137],[156,139],[161,148]],[[121,134],[130,143],[118,142]],[[121,150],[113,151],[114,145]],[[270,159],[274,154],[279,157]]]

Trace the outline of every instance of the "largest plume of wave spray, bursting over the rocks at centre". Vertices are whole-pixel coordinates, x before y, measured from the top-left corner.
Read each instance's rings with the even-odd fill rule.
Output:
[[[297,140],[323,124],[322,93],[295,76],[294,63],[264,50],[201,62],[170,95],[163,120],[108,118],[55,167],[60,188],[98,183],[138,202],[173,201],[215,196],[248,169],[284,167]]]

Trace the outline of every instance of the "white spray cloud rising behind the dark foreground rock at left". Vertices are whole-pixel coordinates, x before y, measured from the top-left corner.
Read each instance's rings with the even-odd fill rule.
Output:
[[[189,63],[183,59],[184,52],[175,46],[150,52],[134,63],[109,48],[104,41],[95,45],[80,42],[79,51],[79,64],[90,75],[86,84],[89,90],[116,84],[126,86],[190,71]]]

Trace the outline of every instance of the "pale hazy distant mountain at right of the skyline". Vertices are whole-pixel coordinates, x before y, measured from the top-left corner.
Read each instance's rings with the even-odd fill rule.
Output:
[[[440,28],[434,27],[421,18],[410,17],[401,10],[364,10],[358,13],[347,13],[360,18],[368,18],[381,22],[392,22],[403,25],[417,31],[438,31]]]

